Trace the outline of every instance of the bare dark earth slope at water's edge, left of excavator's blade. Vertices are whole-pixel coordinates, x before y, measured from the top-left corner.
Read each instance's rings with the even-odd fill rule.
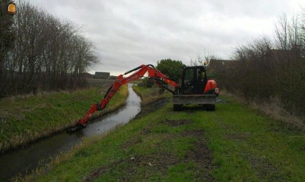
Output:
[[[140,113],[135,118],[141,118],[148,115],[151,112],[157,111],[159,108],[165,106],[168,103],[168,98],[160,98],[158,100],[149,102],[142,105]]]

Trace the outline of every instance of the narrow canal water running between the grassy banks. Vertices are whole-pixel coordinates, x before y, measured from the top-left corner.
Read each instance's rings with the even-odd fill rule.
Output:
[[[0,155],[0,181],[7,181],[16,175],[31,173],[39,165],[49,162],[50,157],[69,151],[85,136],[105,133],[117,125],[132,120],[141,110],[141,99],[128,84],[127,104],[99,119],[90,121],[86,128],[72,134],[66,132],[39,140],[23,149]],[[89,107],[88,107],[89,108]]]

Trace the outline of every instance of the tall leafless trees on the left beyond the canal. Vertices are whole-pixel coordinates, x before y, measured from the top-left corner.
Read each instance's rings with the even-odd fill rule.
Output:
[[[6,0],[0,0],[5,12]],[[19,1],[14,16],[2,13],[0,24],[0,95],[75,89],[82,73],[97,62],[94,45],[81,27]]]

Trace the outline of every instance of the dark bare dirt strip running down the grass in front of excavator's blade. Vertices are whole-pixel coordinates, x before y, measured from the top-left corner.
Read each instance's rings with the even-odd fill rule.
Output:
[[[196,178],[199,180],[212,181],[214,178],[210,175],[210,171],[213,168],[212,165],[212,152],[207,147],[207,141],[204,139],[203,130],[185,130],[181,133],[182,136],[191,136],[197,139],[194,143],[194,149],[186,156],[185,162],[190,160],[196,162],[197,167],[202,172],[196,174]]]

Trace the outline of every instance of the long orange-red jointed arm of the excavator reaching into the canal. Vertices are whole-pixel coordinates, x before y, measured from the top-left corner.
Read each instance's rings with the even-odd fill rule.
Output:
[[[128,75],[131,72],[134,72],[132,75],[124,78],[124,75]],[[101,103],[94,103],[90,110],[87,111],[87,113],[84,115],[83,118],[79,119],[77,124],[68,130],[68,132],[73,132],[76,130],[79,130],[81,128],[84,128],[90,118],[90,116],[92,116],[96,111],[102,111],[106,108],[107,104],[109,103],[110,99],[113,97],[113,95],[117,92],[117,90],[119,90],[119,87],[121,85],[130,83],[132,81],[135,81],[141,77],[143,77],[146,72],[148,72],[148,78],[153,80],[154,83],[156,83],[159,87],[163,87],[167,90],[169,90],[170,92],[173,93],[172,90],[170,90],[168,87],[164,86],[163,84],[161,84],[159,81],[163,81],[169,85],[174,86],[175,88],[178,88],[179,85],[171,78],[166,77],[164,74],[162,74],[162,72],[158,71],[155,66],[148,64],[148,65],[141,65],[138,66],[130,71],[125,72],[125,74],[123,75],[119,75],[116,80],[114,81],[114,83],[111,84],[111,86],[109,87],[109,89],[107,90],[104,98],[101,100]]]

